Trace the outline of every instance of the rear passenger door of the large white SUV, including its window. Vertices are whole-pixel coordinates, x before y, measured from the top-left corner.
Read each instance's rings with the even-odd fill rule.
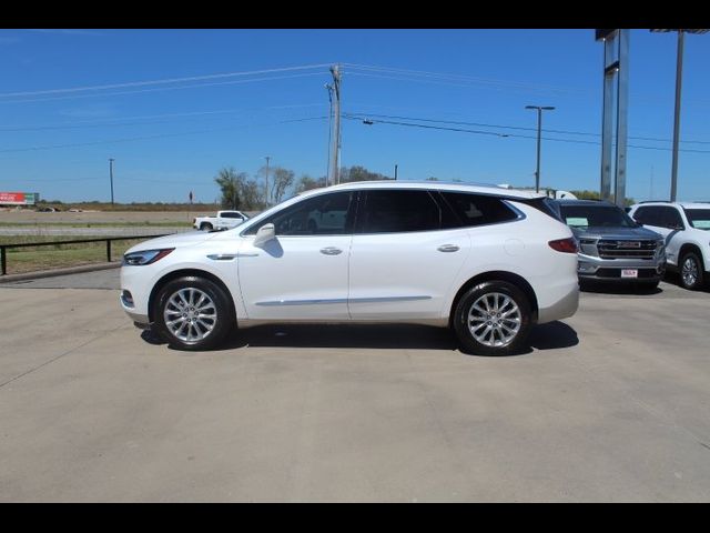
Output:
[[[353,320],[440,316],[470,242],[465,229],[443,229],[446,214],[424,189],[361,193],[349,261]]]

